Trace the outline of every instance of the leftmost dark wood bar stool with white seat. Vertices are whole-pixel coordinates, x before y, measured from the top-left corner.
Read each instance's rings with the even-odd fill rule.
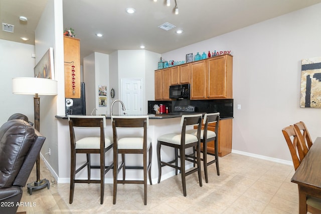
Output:
[[[104,128],[106,127],[105,116],[79,116],[69,115],[70,130],[70,195],[69,203],[73,202],[75,183],[100,183],[100,204],[104,202],[104,180],[105,174],[113,167],[113,164],[105,166],[105,153],[112,148],[111,138],[105,137]],[[83,137],[76,140],[75,128],[99,128],[99,136]],[[83,129],[77,130],[77,134]],[[92,130],[94,132],[94,130]],[[97,130],[98,132],[98,130]],[[87,156],[87,161],[76,169],[76,154],[83,153]],[[100,154],[100,165],[90,164],[90,154]],[[88,179],[76,179],[76,174],[87,166]],[[90,170],[100,169],[100,179],[90,179]]]

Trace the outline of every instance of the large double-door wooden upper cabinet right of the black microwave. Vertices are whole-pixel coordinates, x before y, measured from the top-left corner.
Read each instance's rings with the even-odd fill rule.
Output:
[[[228,54],[191,63],[191,100],[233,98],[232,75]]]

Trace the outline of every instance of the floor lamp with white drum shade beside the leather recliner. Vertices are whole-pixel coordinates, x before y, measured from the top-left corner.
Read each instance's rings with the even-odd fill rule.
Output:
[[[57,81],[45,78],[17,77],[12,80],[14,94],[34,95],[35,129],[40,132],[40,97],[38,95],[57,95]],[[49,181],[40,179],[40,155],[36,161],[37,180],[27,185],[29,194],[33,189],[50,186]]]

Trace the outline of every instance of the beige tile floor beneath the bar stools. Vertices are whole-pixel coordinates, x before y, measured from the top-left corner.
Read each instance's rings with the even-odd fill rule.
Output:
[[[143,204],[143,186],[118,184],[117,202],[112,204],[112,184],[105,184],[104,203],[100,204],[99,184],[75,184],[69,204],[69,183],[51,184],[34,191],[24,187],[18,211],[31,213],[298,213],[297,184],[291,183],[294,168],[267,160],[229,154],[219,158],[220,176],[215,164],[209,166],[209,182],[200,187],[197,173],[187,177],[187,196],[183,196],[181,176],[148,185],[147,205]],[[41,176],[53,177],[41,163]],[[202,171],[203,173],[203,171]],[[35,180],[32,173],[29,181]]]

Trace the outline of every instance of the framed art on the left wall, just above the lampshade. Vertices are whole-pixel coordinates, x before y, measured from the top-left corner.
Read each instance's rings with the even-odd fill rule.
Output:
[[[55,79],[54,74],[54,51],[53,48],[45,53],[34,68],[35,77]]]

